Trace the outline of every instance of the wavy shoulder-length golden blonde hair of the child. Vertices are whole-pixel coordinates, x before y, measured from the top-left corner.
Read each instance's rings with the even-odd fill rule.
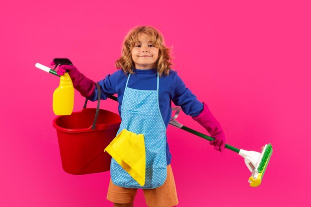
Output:
[[[171,62],[170,49],[164,45],[162,34],[151,26],[139,26],[129,31],[122,44],[121,57],[116,61],[117,69],[122,69],[125,73],[134,73],[135,64],[132,59],[132,49],[139,42],[139,36],[145,33],[150,36],[151,43],[159,49],[158,58],[154,68],[159,75],[168,75],[173,63]]]

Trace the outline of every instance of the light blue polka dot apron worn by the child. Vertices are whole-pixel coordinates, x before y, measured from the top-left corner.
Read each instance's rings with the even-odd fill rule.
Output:
[[[164,125],[159,103],[157,74],[156,90],[137,90],[129,88],[129,74],[121,107],[121,125],[117,134],[123,129],[136,134],[143,134],[146,148],[146,180],[141,186],[112,158],[110,166],[113,184],[124,188],[153,189],[166,180],[166,127]]]

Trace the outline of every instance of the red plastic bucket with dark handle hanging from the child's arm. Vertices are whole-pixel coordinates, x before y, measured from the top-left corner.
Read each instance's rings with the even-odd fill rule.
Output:
[[[96,84],[97,85],[97,84]],[[99,87],[99,85],[97,85]],[[100,94],[100,88],[98,89]],[[110,170],[111,156],[104,152],[119,129],[120,116],[103,109],[85,108],[53,121],[65,172],[83,175]],[[95,118],[95,119],[94,119]]]

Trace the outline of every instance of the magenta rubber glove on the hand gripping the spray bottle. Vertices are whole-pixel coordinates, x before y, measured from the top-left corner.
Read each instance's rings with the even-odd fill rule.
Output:
[[[51,66],[55,63],[52,61]],[[62,65],[57,70],[58,75],[64,75],[66,69],[69,70],[69,75],[73,81],[74,87],[80,94],[86,98],[91,97],[95,92],[95,82],[83,75],[75,66]]]

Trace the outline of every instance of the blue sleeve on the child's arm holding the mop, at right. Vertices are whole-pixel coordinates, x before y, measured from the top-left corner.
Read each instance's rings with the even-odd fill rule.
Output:
[[[186,87],[182,79],[174,72],[172,101],[182,111],[192,117],[198,116],[203,110],[203,103]]]

